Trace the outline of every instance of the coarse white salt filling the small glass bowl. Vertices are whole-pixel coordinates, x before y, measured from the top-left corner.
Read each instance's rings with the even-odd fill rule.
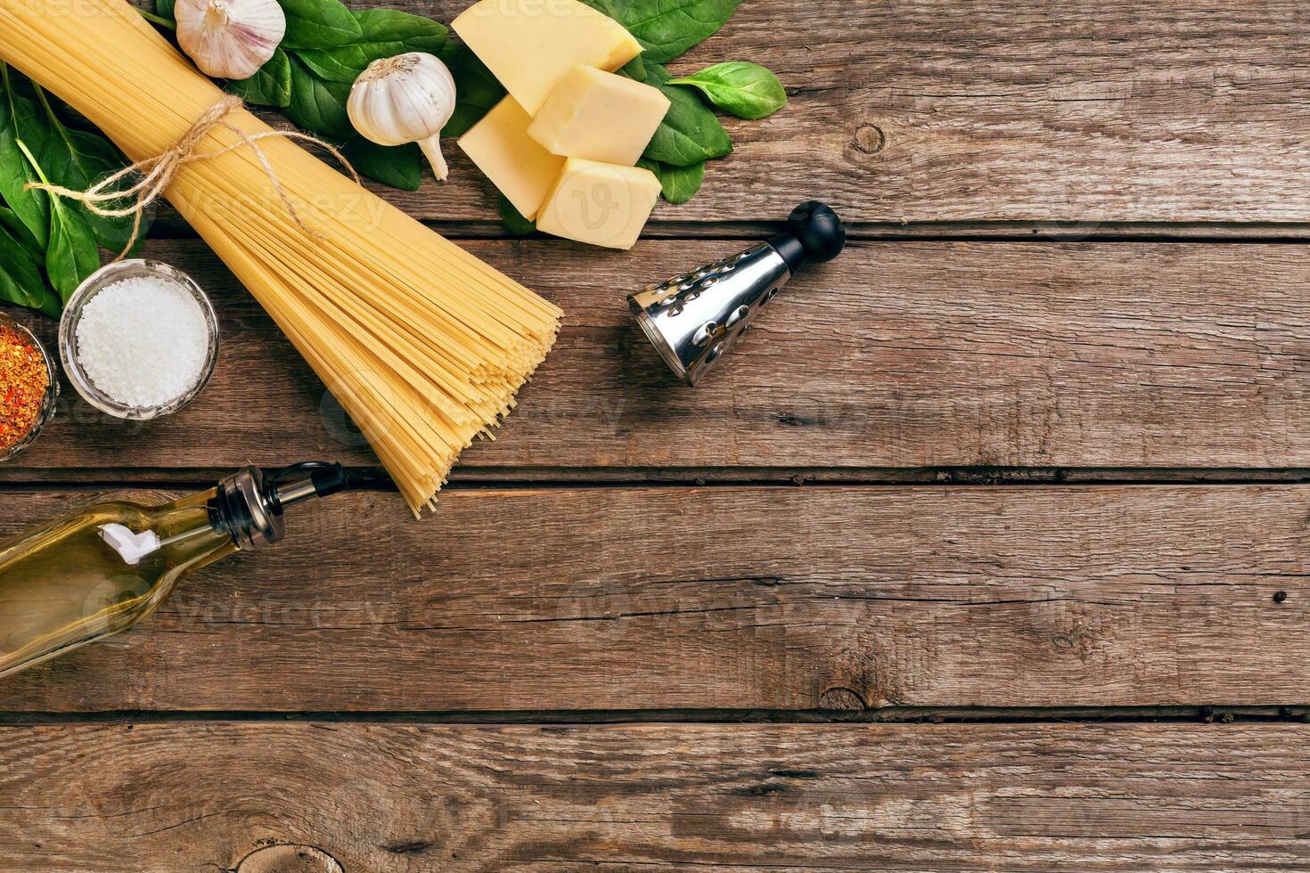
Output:
[[[204,310],[182,285],[135,276],[100,289],[77,321],[77,363],[118,403],[159,407],[200,380],[210,351]]]

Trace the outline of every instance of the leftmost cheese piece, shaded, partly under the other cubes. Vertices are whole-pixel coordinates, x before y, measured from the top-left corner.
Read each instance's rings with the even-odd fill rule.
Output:
[[[528,136],[531,123],[532,116],[512,97],[506,97],[460,137],[464,153],[529,220],[537,217],[565,168],[565,158]]]

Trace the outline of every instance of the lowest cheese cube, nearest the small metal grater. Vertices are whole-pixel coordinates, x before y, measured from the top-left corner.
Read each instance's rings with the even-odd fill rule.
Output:
[[[537,216],[537,229],[607,249],[631,249],[659,199],[659,179],[637,166],[571,157]]]

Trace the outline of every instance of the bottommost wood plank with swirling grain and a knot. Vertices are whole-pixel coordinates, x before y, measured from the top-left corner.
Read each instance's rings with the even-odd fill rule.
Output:
[[[1303,725],[7,728],[0,866],[325,873],[328,855],[347,873],[1301,870],[1307,736]],[[271,842],[321,853],[269,868]]]

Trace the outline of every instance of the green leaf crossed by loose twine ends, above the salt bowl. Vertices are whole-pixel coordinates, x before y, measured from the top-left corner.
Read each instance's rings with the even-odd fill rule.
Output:
[[[45,92],[38,90],[37,94],[46,111],[51,134],[45,148],[37,154],[37,164],[47,179],[73,191],[85,191],[127,165],[127,160],[113,143],[98,134],[66,127],[50,106]],[[81,212],[92,233],[96,234],[96,242],[115,254],[122,251],[132,237],[130,216],[106,219],[81,204],[68,202],[66,205]],[[138,243],[143,242],[148,228],[149,219],[145,217],[141,221]]]

